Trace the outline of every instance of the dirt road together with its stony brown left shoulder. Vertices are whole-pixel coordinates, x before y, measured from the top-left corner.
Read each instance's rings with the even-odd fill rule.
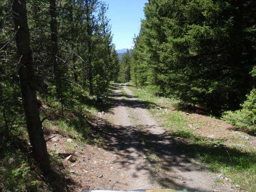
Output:
[[[134,97],[128,86],[113,89],[113,107],[91,122],[94,143],[76,146],[76,162],[64,160],[70,171],[70,191],[88,189],[176,189],[190,192],[238,192],[223,175],[208,172],[177,138],[169,135]],[[122,93],[121,93],[122,90]],[[68,138],[70,139],[70,138]],[[56,145],[58,144],[58,145]],[[56,147],[57,146],[57,147]],[[67,154],[67,137],[48,142],[50,151]],[[80,149],[80,150],[77,150]]]

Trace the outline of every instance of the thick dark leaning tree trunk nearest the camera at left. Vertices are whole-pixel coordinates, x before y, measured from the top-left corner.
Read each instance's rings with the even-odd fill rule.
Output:
[[[44,174],[49,175],[51,171],[47,146],[44,140],[36,98],[34,70],[29,42],[29,28],[26,16],[26,0],[12,0],[12,15],[15,31],[18,30],[15,37],[19,62],[18,72],[29,140],[32,145],[35,161]]]

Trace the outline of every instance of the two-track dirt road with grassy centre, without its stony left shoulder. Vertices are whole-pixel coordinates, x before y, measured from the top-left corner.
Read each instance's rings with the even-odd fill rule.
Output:
[[[122,96],[121,88],[126,95]],[[182,153],[175,140],[135,98],[127,85],[113,91],[114,107],[108,114],[108,133],[114,162],[119,169],[118,190],[174,188],[183,191],[227,192],[216,186],[215,175]]]

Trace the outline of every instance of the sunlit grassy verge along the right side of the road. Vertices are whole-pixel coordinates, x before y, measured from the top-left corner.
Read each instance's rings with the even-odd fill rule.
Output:
[[[146,106],[148,110],[176,138],[177,144],[184,151],[190,152],[191,158],[205,163],[210,171],[224,175],[221,179],[216,179],[216,182],[225,183],[228,180],[237,190],[256,191],[255,144],[245,142],[243,137],[238,136],[249,137],[248,135],[228,131],[228,140],[221,137],[221,133],[219,137],[203,136],[202,132],[198,131],[202,127],[208,127],[209,133],[216,129],[221,131],[222,124],[212,124],[213,121],[219,121],[218,119],[206,116],[201,119],[194,116],[191,118],[186,112],[176,109],[177,101],[174,99],[154,96],[147,90],[136,89],[132,84],[128,84],[128,89],[140,101],[150,104]],[[254,137],[253,139],[255,141]]]

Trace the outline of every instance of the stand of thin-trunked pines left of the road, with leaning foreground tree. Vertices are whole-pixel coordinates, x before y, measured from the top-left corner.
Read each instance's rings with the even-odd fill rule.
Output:
[[[117,79],[107,10],[99,0],[1,0],[0,149],[8,150],[27,128],[45,175],[51,171],[42,122],[53,114],[76,117],[79,110],[82,116],[78,98],[88,92],[100,102]]]

